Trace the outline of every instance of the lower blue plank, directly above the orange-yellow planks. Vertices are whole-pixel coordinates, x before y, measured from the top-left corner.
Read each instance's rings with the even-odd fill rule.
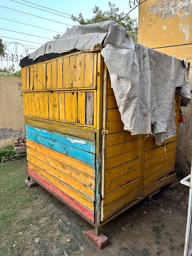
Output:
[[[29,140],[36,141],[44,146],[57,150],[63,154],[79,159],[87,164],[95,165],[95,154],[73,148],[61,142],[45,138],[39,134],[26,131],[26,138]]]

